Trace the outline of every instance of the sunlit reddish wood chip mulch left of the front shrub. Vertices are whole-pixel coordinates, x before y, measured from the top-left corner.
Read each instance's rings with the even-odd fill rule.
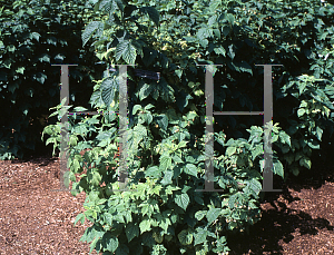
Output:
[[[73,226],[85,210],[85,194],[55,192],[58,176],[58,158],[0,161],[1,255],[89,253],[79,239],[91,224]]]

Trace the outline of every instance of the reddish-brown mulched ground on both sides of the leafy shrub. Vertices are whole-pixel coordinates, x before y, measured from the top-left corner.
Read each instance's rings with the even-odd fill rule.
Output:
[[[228,236],[229,255],[334,254],[333,165],[320,159],[313,176],[278,184],[284,192],[265,196],[262,220],[250,235]],[[79,242],[89,223],[73,226],[85,194],[52,192],[58,177],[58,158],[0,160],[1,255],[89,253],[89,245]]]

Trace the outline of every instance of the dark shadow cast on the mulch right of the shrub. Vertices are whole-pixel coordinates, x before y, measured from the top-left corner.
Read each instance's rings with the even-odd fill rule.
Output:
[[[310,171],[299,173],[297,177],[292,175],[286,183],[282,178],[274,176],[274,188],[281,188],[283,192],[264,195],[264,199],[261,203],[269,203],[271,208],[262,209],[262,218],[258,223],[250,226],[249,235],[237,233],[227,236],[228,247],[230,248],[229,255],[286,254],[282,243],[294,246],[291,244],[295,238],[294,233],[299,232],[301,236],[304,237],[308,234],[311,237],[306,237],[308,238],[307,242],[312,242],[312,236],[317,235],[320,231],[334,229],[327,219],[323,217],[314,218],[302,210],[289,209],[285,203],[277,200],[279,197],[286,199],[288,204],[302,200],[298,197],[293,197],[288,189],[299,193],[301,190],[305,192],[305,189],[318,189],[325,182],[334,183],[333,158],[327,157],[327,159],[324,159],[315,156],[312,158],[312,164]],[[316,198],[313,202],[316,203]],[[294,253],[288,254],[301,254],[298,248],[292,247]]]

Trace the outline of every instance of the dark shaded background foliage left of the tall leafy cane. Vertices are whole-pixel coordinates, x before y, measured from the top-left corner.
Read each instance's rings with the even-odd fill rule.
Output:
[[[0,10],[0,158],[21,158],[45,150],[40,134],[60,91],[60,67],[51,65],[79,65],[69,68],[70,99],[84,106],[91,95],[85,90],[92,91],[101,70],[94,51],[81,47],[81,30],[92,14],[85,3],[23,0]]]

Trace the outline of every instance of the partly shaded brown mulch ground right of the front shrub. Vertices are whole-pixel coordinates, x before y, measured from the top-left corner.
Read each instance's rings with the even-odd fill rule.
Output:
[[[334,160],[317,157],[312,164],[286,184],[274,180],[283,193],[266,194],[249,236],[229,236],[229,255],[334,254]]]

